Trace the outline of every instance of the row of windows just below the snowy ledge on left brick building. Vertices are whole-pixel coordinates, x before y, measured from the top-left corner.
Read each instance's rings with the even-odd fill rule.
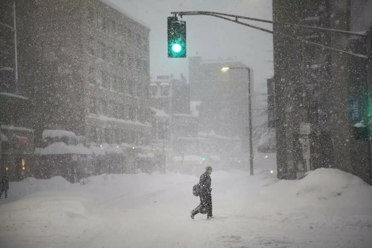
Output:
[[[102,144],[148,145],[149,137],[141,132],[127,132],[118,129],[92,127],[89,131],[89,141]]]

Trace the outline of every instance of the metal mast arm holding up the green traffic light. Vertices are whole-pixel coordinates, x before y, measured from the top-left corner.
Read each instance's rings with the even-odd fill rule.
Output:
[[[371,57],[369,57],[368,55],[355,54],[353,52],[348,52],[348,51],[344,51],[344,50],[341,50],[341,49],[333,48],[333,47],[330,47],[330,46],[318,44],[316,42],[307,41],[307,40],[304,40],[304,39],[302,39],[300,37],[296,37],[296,36],[292,36],[292,35],[287,35],[285,33],[280,33],[280,32],[274,32],[272,30],[268,30],[268,29],[264,29],[264,28],[260,28],[260,27],[257,27],[257,26],[253,26],[253,25],[250,25],[250,24],[247,24],[247,23],[244,23],[244,22],[240,22],[240,21],[238,21],[238,19],[239,18],[240,19],[247,19],[247,20],[253,20],[253,21],[257,21],[257,22],[271,23],[271,24],[282,25],[282,26],[286,26],[286,25],[288,25],[288,26],[300,26],[300,27],[303,27],[303,28],[321,29],[321,30],[327,30],[327,31],[332,31],[332,32],[339,32],[339,33],[346,33],[348,35],[357,35],[357,36],[366,36],[366,35],[368,35],[368,33],[366,31],[365,32],[349,32],[349,31],[344,31],[344,30],[319,28],[319,27],[312,27],[312,26],[292,24],[292,23],[278,23],[278,22],[272,22],[272,21],[269,21],[269,20],[250,18],[250,17],[245,17],[245,16],[235,16],[235,15],[230,15],[230,14],[224,14],[224,13],[218,13],[218,12],[209,12],[209,11],[171,12],[171,14],[174,14],[175,16],[178,14],[180,17],[182,17],[182,16],[195,16],[195,15],[214,16],[214,17],[218,17],[218,18],[221,18],[221,19],[224,19],[224,20],[228,20],[230,22],[235,22],[235,23],[238,23],[238,24],[241,24],[241,25],[244,25],[244,26],[248,26],[250,28],[258,29],[258,30],[261,30],[261,31],[264,31],[264,32],[267,32],[267,33],[275,33],[275,34],[283,35],[283,36],[286,36],[288,38],[296,39],[298,41],[302,41],[302,42],[305,42],[305,43],[308,43],[308,44],[312,44],[312,45],[316,45],[316,46],[321,46],[323,48],[327,48],[327,49],[330,49],[330,50],[333,50],[333,51],[336,51],[336,52],[340,52],[340,53],[343,53],[343,54],[349,54],[349,55],[353,55],[353,56],[356,56],[356,57],[359,57],[359,58],[371,59]],[[224,17],[224,16],[235,17],[235,19],[230,19],[230,18]]]

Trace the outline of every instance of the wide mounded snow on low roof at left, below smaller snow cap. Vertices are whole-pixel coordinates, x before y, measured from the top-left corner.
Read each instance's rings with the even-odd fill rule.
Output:
[[[39,155],[51,155],[51,154],[93,154],[91,149],[86,148],[83,144],[78,145],[66,145],[63,142],[56,142],[44,149],[35,149],[35,154]]]

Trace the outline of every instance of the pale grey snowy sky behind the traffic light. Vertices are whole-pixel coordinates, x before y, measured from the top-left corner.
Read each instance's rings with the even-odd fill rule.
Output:
[[[147,23],[150,32],[152,77],[183,73],[188,77],[188,58],[167,58],[167,16],[171,11],[205,10],[272,20],[272,0],[110,0]],[[184,16],[187,57],[231,57],[254,70],[255,89],[266,91],[273,75],[272,35],[210,16]],[[271,25],[249,22],[271,29]],[[264,84],[262,84],[264,83]]]

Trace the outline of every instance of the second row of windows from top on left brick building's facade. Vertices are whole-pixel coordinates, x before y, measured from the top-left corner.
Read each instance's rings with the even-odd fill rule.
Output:
[[[87,46],[88,53],[94,57],[101,58],[106,62],[117,64],[129,70],[149,71],[150,64],[148,60],[141,60],[133,55],[126,54],[124,51],[117,51],[116,49],[106,46],[102,42],[96,42],[93,38],[89,38]]]

